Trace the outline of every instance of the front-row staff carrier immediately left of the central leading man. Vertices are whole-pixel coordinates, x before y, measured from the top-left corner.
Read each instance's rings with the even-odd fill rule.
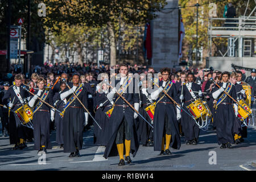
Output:
[[[75,92],[78,95],[79,100],[87,108],[87,93],[84,87],[79,84],[79,81],[80,75],[74,73],[72,77],[73,87],[71,89],[64,89],[57,96],[57,100],[64,100],[66,98],[67,104],[73,98],[63,116],[64,152],[71,152],[69,155],[70,158],[80,156],[79,150],[82,149],[82,131],[86,122],[88,122],[88,113],[73,93]]]

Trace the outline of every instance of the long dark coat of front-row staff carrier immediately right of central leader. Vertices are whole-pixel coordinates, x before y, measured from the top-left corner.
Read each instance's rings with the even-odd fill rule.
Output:
[[[163,81],[159,82],[159,86],[163,85]],[[177,89],[175,84],[171,86],[168,90],[167,94],[172,97],[178,104],[180,104],[179,97],[177,94]],[[166,95],[160,102],[172,102],[170,98]],[[165,121],[167,118],[167,121]],[[175,149],[179,149],[180,135],[179,135],[179,126],[176,118],[176,110],[174,104],[164,104],[158,103],[155,107],[154,114],[154,150],[161,151],[162,150],[162,138],[164,136],[165,122],[170,126],[169,132],[171,133],[171,143],[170,146]]]

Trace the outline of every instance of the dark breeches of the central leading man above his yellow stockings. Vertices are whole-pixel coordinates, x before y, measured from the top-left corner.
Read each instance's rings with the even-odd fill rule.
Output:
[[[126,140],[131,140],[131,131],[133,130],[130,128],[131,125],[129,125],[123,117],[123,121],[121,125],[119,126],[118,132],[117,132],[117,138],[115,139],[116,144],[121,144],[123,143],[124,138]]]

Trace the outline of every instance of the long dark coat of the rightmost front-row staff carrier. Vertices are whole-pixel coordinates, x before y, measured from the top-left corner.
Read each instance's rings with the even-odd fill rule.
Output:
[[[220,83],[218,85],[222,86],[223,83]],[[215,86],[215,88],[212,90],[212,93],[214,93],[216,90],[218,90],[217,86]],[[230,90],[229,95],[236,99],[237,95],[236,95],[236,88],[234,85],[232,86],[232,89]],[[220,96],[218,96],[218,98]],[[212,94],[211,94],[211,97],[212,97]],[[234,143],[233,125],[234,125],[235,115],[234,115],[234,109],[233,109],[233,100],[229,98],[229,96],[226,96],[225,100],[222,102],[229,103],[229,104],[218,105],[216,114],[214,115],[215,117],[214,122],[216,126],[218,144],[228,143],[228,142]]]

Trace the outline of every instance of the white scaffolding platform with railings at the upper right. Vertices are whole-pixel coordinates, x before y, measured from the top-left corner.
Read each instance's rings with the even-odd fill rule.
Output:
[[[255,9],[254,9],[255,10]],[[253,11],[254,11],[253,10]],[[252,14],[253,12],[251,12]],[[251,53],[251,39],[256,38],[256,16],[240,16],[239,18],[210,18],[208,26],[209,57],[212,56],[213,38],[228,38],[228,49],[220,52],[222,57],[253,56]],[[217,26],[220,25],[221,26]],[[246,38],[250,38],[249,40]],[[235,46],[238,41],[238,54]]]

